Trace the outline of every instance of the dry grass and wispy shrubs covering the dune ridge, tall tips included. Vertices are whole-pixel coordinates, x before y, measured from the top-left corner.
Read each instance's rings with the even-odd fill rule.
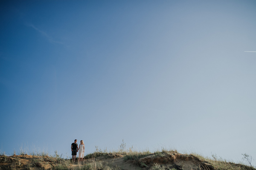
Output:
[[[252,157],[242,154],[245,164],[236,164],[212,155],[211,158],[192,154],[181,154],[177,150],[157,150],[151,153],[149,150],[136,151],[132,147],[126,149],[126,144],[122,144],[116,151],[101,150],[96,146],[93,153],[86,155],[83,161],[72,162],[71,159],[64,159],[57,151],[53,156],[48,156],[45,152],[33,152],[27,155],[20,151],[20,155],[0,156],[0,170],[256,170],[252,166]],[[118,160],[118,163],[115,161]],[[123,168],[126,164],[126,168]],[[127,165],[128,164],[128,165]],[[127,168],[128,166],[128,168]]]

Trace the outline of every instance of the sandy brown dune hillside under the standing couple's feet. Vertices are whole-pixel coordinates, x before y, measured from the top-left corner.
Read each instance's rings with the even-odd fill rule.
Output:
[[[0,156],[0,170],[255,170],[241,164],[228,163],[220,168],[193,155],[180,153],[148,154],[128,157],[116,154],[70,162],[51,156]],[[232,166],[239,167],[233,168]]]

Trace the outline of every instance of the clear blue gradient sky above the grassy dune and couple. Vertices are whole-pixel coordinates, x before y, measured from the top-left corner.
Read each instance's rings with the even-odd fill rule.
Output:
[[[74,139],[256,159],[255,0],[1,0],[0,150]],[[256,161],[254,161],[256,164]]]

